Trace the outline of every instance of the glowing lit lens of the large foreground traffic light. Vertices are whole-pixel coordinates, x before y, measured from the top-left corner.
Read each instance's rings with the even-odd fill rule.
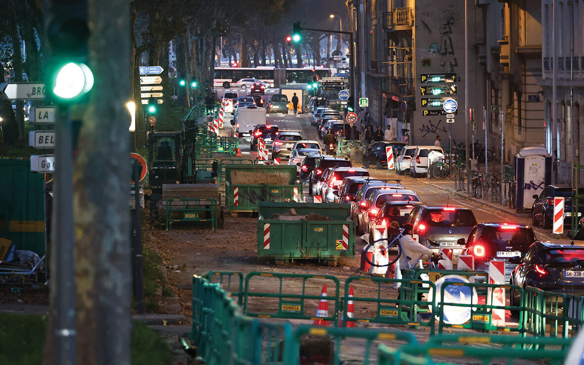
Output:
[[[57,71],[53,93],[62,99],[74,99],[93,87],[93,73],[82,63],[69,62]]]

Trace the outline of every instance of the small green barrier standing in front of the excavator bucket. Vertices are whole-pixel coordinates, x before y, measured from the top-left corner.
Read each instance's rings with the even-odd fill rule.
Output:
[[[211,222],[213,230],[217,230],[217,212],[218,206],[215,199],[168,199],[166,200],[166,230],[172,230],[172,224],[175,222]]]

